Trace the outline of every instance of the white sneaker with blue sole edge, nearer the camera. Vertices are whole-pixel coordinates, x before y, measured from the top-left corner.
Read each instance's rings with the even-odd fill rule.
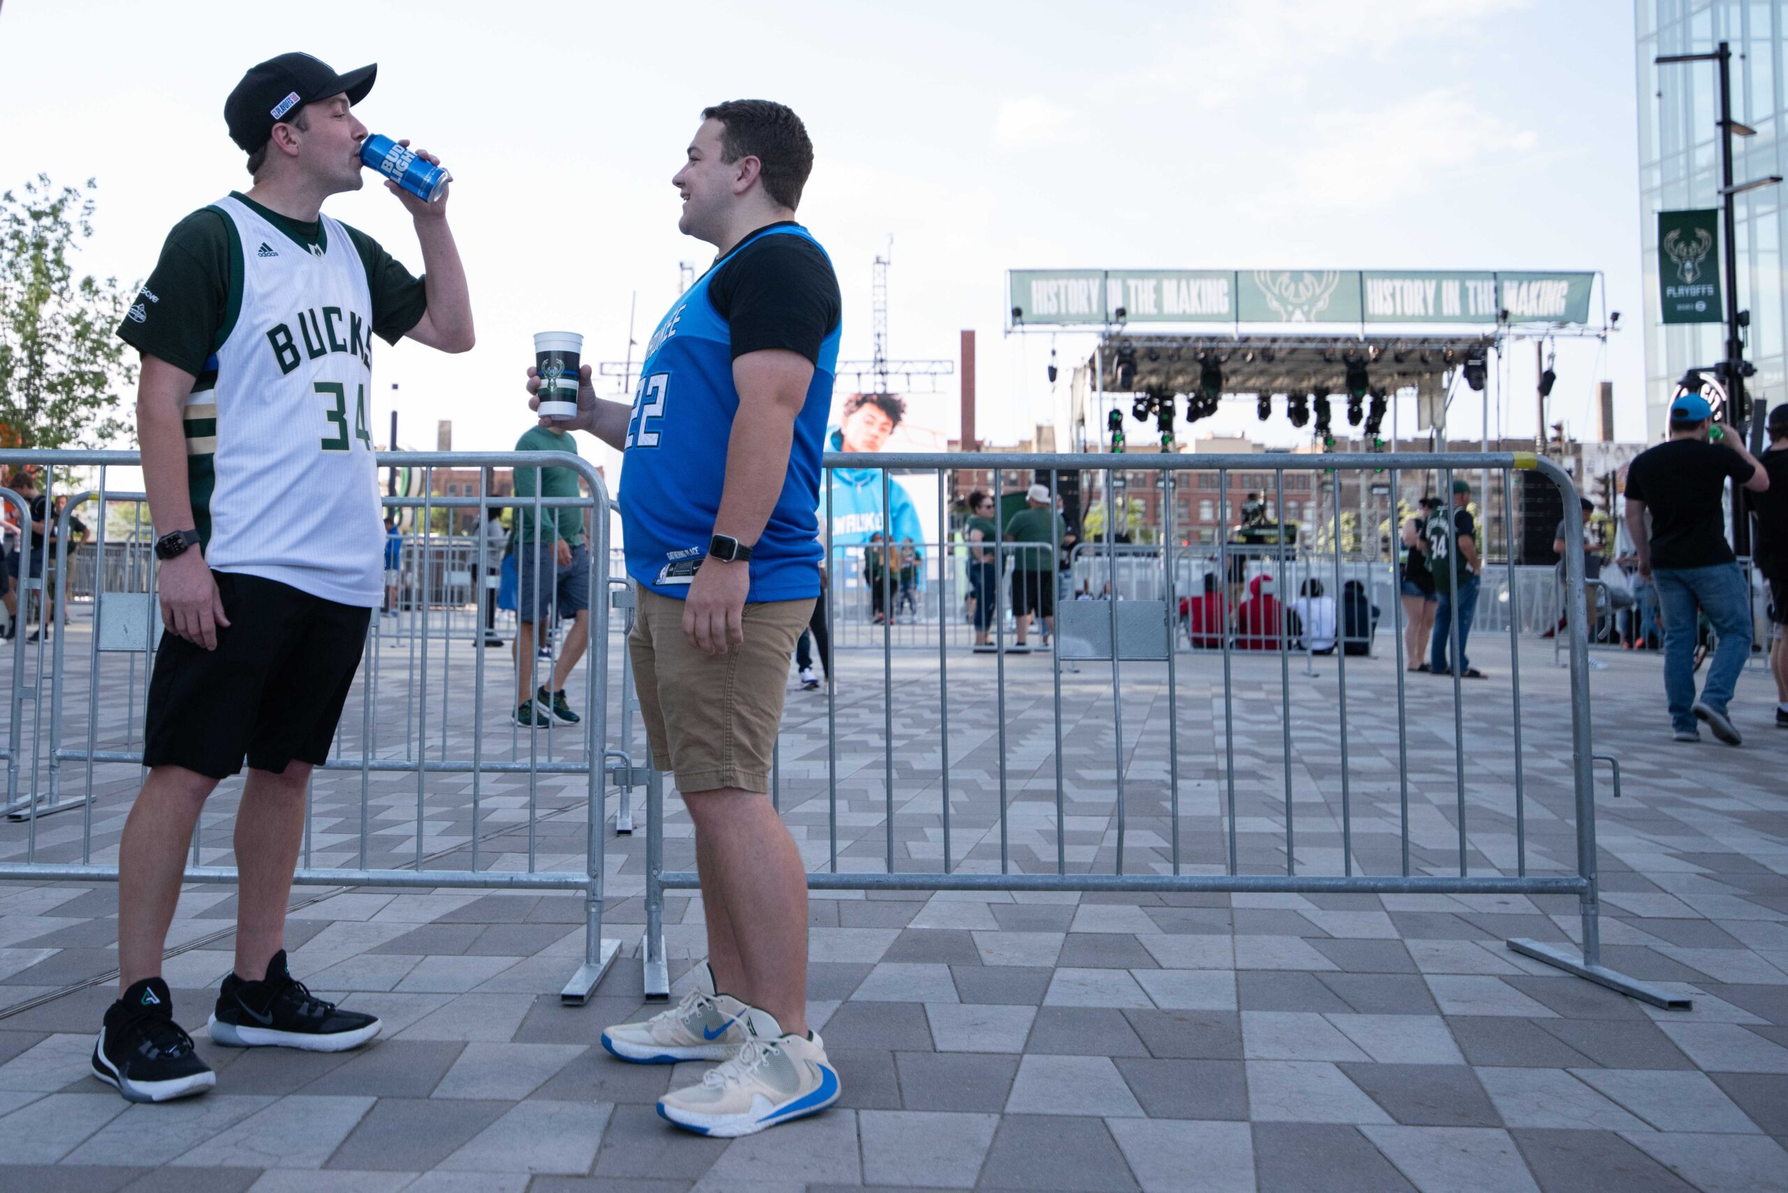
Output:
[[[699,1136],[753,1136],[796,1118],[819,1114],[839,1100],[839,1073],[815,1032],[783,1036],[776,1016],[746,1009],[751,1036],[699,1086],[658,1098],[658,1114]]]

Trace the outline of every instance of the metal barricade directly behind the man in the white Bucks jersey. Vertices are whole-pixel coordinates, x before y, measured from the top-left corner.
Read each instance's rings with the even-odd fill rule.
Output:
[[[603,816],[613,762],[608,735],[608,492],[601,474],[565,453],[381,453],[381,465],[422,472],[422,495],[384,497],[388,510],[413,512],[420,529],[408,549],[415,560],[409,617],[393,631],[377,612],[367,633],[365,655],[336,728],[327,762],[313,771],[306,800],[304,841],[297,884],[377,885],[402,889],[468,891],[578,891],[585,901],[583,959],[561,991],[581,1003],[613,960],[619,941],[603,937]],[[136,470],[138,454],[122,451],[14,451],[0,453],[0,467],[43,470],[45,492],[72,470],[91,474],[89,488],[73,494],[61,512],[54,538],[55,572],[68,569],[68,520],[91,503],[98,512],[95,558],[109,560],[107,529],[129,524],[131,544],[143,542],[147,503],[141,494],[111,488],[111,470]],[[433,470],[558,467],[572,470],[588,488],[579,497],[434,495]],[[536,472],[536,476],[540,476]],[[5,499],[21,506],[16,494]],[[120,510],[120,506],[127,510]],[[522,651],[504,667],[493,660],[483,633],[485,603],[495,594],[483,583],[463,583],[440,572],[481,578],[499,558],[483,537],[476,542],[436,542],[434,513],[476,510],[477,524],[492,508],[510,508],[540,528],[544,515],[561,508],[583,512],[588,544],[588,581],[595,596],[588,639],[595,644],[585,669],[581,723],[524,728],[519,699],[508,694],[519,676]],[[542,533],[542,531],[536,531]],[[29,572],[29,569],[21,569]],[[50,571],[50,569],[46,569]],[[544,569],[540,569],[544,572]],[[50,592],[59,626],[45,656],[39,639],[34,660],[20,639],[13,658],[11,730],[5,748],[9,821],[21,828],[0,832],[0,880],[116,880],[116,841],[95,841],[97,826],[116,833],[143,778],[141,714],[161,615],[156,599],[154,558],[123,569],[89,572],[91,630],[70,628],[70,585]],[[120,580],[125,583],[120,585]],[[540,583],[536,580],[536,583]],[[30,592],[43,581],[32,581]],[[114,587],[118,585],[118,587]],[[526,594],[524,594],[526,599]],[[535,606],[529,606],[535,608]],[[547,619],[556,619],[556,596],[547,597]],[[538,610],[536,610],[538,615]],[[456,639],[476,628],[470,646]],[[574,630],[576,633],[576,622]],[[570,637],[567,633],[567,639]],[[80,640],[84,637],[84,640]],[[538,667],[549,660],[533,658]],[[492,681],[493,680],[493,681]],[[23,706],[30,705],[30,717]],[[45,715],[48,710],[48,715]],[[21,744],[21,739],[29,739]],[[20,794],[23,764],[30,782]],[[234,783],[231,782],[231,789]],[[193,832],[190,882],[236,882],[227,837],[215,828],[229,810],[211,812],[224,787],[207,803]],[[80,810],[79,826],[50,819]],[[104,817],[98,819],[97,817]],[[578,816],[585,825],[576,832]],[[565,832],[565,830],[574,832]],[[209,832],[207,832],[209,830]],[[519,839],[526,832],[526,841]]]

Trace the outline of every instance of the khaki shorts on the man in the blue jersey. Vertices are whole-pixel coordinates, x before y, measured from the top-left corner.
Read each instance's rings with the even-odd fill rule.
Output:
[[[747,605],[744,644],[704,655],[683,633],[683,601],[638,585],[633,592],[638,605],[628,655],[653,767],[672,771],[685,792],[767,792],[789,658],[814,601]]]

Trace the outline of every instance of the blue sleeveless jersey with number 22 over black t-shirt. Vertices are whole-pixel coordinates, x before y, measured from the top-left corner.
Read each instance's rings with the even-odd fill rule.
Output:
[[[765,334],[763,309],[785,295],[774,284],[740,284],[728,275],[756,268],[755,249],[769,258],[763,241],[799,238],[817,254],[810,279],[812,300],[790,308],[789,322],[812,311],[826,311],[812,322],[808,340],[778,340]],[[778,249],[783,245],[776,245]],[[763,268],[772,268],[763,259]],[[758,283],[763,275],[756,277]],[[724,286],[722,286],[724,283]],[[755,326],[744,342],[735,342],[731,299],[753,308]],[[828,292],[830,288],[830,292]],[[760,300],[762,295],[762,300]],[[799,299],[801,295],[796,295]],[[828,306],[830,304],[830,306]],[[740,324],[746,311],[737,317]],[[683,292],[660,320],[645,347],[638,390],[628,420],[620,469],[620,524],[626,537],[628,574],[662,596],[685,597],[696,567],[708,553],[713,519],[721,510],[726,483],[726,449],[738,413],[733,388],[733,356],[740,349],[790,347],[814,361],[814,379],[794,422],[789,472],[776,508],[751,554],[751,590],[747,603],[794,601],[819,596],[819,460],[831,406],[831,379],[839,363],[840,320],[837,318],[837,279],[819,241],[797,224],[774,224],[753,233],[710,268],[701,281]]]

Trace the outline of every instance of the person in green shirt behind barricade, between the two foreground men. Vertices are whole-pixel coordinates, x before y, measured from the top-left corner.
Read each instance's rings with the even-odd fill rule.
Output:
[[[515,451],[578,454],[569,431],[536,426],[515,440]],[[578,497],[578,474],[563,467],[515,469],[515,723],[527,726],[578,724],[565,699],[565,681],[590,642],[590,553],[583,540],[583,508],[544,508],[535,515],[533,495]],[[538,520],[538,526],[536,526]],[[565,649],[552,665],[551,685],[535,689],[535,651],[545,640],[554,612],[570,619]],[[538,637],[536,637],[538,633]],[[529,698],[529,692],[533,696]]]

